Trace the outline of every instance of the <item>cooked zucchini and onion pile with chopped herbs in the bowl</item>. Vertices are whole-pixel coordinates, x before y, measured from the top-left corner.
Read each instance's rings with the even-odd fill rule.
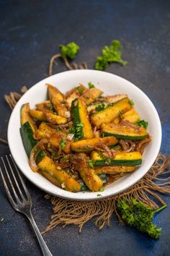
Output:
[[[135,171],[150,135],[128,95],[102,96],[90,82],[21,108],[20,133],[32,171],[70,192],[102,191]]]

